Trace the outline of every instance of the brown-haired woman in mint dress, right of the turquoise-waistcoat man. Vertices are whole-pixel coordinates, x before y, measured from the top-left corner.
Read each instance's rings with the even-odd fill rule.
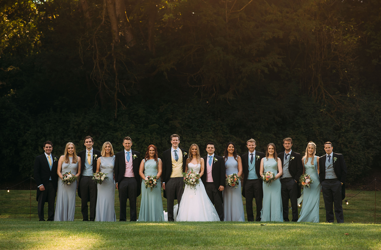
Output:
[[[263,173],[268,171],[275,174],[275,180],[271,181],[271,185],[267,186],[262,183],[263,207],[261,221],[283,221],[281,184],[279,180],[283,174],[283,169],[276,150],[274,143],[267,145],[266,157],[261,159],[261,167],[259,168],[261,177],[263,177]]]

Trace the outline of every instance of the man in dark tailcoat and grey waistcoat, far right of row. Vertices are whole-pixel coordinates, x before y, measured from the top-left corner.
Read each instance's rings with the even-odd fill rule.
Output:
[[[334,204],[337,222],[344,223],[343,199],[345,198],[347,166],[343,154],[333,153],[331,142],[324,143],[324,150],[326,154],[319,159],[319,178],[323,191],[326,221],[333,222],[332,206]]]

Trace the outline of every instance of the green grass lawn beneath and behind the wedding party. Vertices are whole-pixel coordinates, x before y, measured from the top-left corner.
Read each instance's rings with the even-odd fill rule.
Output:
[[[347,197],[356,193],[347,190]],[[344,224],[271,222],[262,226],[256,222],[83,222],[78,197],[74,222],[42,222],[37,217],[35,191],[29,221],[30,191],[0,191],[0,249],[381,249],[381,225],[370,224],[374,195],[362,192],[344,204]],[[116,192],[118,218],[117,196]],[[381,192],[377,197],[376,223],[380,223]],[[165,199],[163,206],[166,210]],[[320,221],[325,221],[324,206],[320,206]]]

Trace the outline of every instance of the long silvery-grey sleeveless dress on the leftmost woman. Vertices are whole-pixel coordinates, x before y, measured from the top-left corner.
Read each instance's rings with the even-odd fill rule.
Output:
[[[72,163],[73,158],[69,157],[69,163],[62,163],[61,174],[71,172],[76,175],[78,170],[78,162]],[[56,212],[54,213],[54,221],[74,221],[75,213],[75,192],[77,191],[77,181],[70,185],[63,184],[58,178]]]

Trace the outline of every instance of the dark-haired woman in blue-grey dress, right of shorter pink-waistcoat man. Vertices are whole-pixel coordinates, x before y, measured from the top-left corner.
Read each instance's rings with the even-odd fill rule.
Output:
[[[241,157],[237,155],[235,144],[233,142],[227,143],[224,160],[226,178],[227,175],[234,173],[238,173],[238,176],[242,175],[243,169]],[[226,186],[224,189],[224,221],[245,221],[241,192],[241,182],[239,182],[238,188]]]

